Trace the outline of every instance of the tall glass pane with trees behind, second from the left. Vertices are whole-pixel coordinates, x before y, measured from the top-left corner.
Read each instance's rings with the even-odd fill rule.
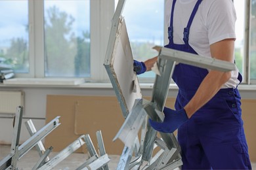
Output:
[[[90,1],[44,1],[45,76],[88,77]]]

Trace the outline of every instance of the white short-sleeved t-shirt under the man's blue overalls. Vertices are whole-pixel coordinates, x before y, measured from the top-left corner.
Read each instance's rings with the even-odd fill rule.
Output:
[[[173,16],[173,42],[184,44],[183,30],[197,0],[177,0]],[[169,27],[173,0],[165,3],[165,23]],[[190,27],[188,43],[200,55],[211,57],[209,45],[223,39],[236,38],[236,10],[231,0],[203,0]],[[236,88],[238,69],[222,88]]]

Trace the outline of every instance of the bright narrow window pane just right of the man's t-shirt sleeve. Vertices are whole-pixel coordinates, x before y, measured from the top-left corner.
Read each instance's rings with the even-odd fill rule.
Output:
[[[235,41],[235,59],[236,66],[244,76],[244,54],[245,54],[245,0],[234,1],[236,9],[236,41]]]

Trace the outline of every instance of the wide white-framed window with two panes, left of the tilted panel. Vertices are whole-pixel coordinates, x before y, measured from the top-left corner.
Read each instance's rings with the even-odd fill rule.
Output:
[[[0,5],[0,62],[12,65],[16,77],[108,80],[102,65],[114,0],[1,0]]]

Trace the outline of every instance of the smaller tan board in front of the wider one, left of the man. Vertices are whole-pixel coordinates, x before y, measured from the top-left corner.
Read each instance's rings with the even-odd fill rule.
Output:
[[[92,103],[95,103],[94,108],[88,112],[88,107]],[[77,135],[89,134],[96,145],[95,133],[100,130],[108,154],[121,154],[123,143],[113,142],[113,139],[123,121],[124,118],[116,97],[87,97],[83,101],[79,100],[75,103],[74,133]]]

